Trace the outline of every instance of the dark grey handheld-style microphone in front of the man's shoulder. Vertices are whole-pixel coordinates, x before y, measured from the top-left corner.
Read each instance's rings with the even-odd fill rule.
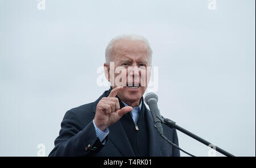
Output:
[[[164,121],[158,109],[158,96],[155,93],[148,93],[145,96],[145,102],[150,108],[156,129],[160,135],[163,135],[163,127],[161,123]]]

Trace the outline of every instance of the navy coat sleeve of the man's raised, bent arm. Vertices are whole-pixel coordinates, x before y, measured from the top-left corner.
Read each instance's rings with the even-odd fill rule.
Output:
[[[76,112],[66,112],[59,136],[54,144],[55,148],[49,156],[93,156],[104,145],[96,136],[93,122],[90,121],[84,128]]]

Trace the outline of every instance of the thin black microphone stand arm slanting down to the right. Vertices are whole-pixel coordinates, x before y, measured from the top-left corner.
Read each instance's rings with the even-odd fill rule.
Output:
[[[201,138],[201,137],[199,137],[199,136],[197,136],[197,135],[187,131],[186,129],[180,127],[179,125],[176,125],[176,123],[174,121],[170,120],[170,119],[164,119],[163,123],[166,124],[170,128],[175,128],[175,129],[179,130],[180,132],[185,133],[185,135],[188,135],[188,136],[194,138],[195,140],[197,140],[197,141],[199,141],[199,142],[201,142],[201,143],[203,143],[203,144],[205,144],[207,146],[210,145],[212,149],[214,149],[214,150],[224,154],[225,156],[234,157],[233,154],[230,154],[230,153],[226,152],[225,150],[219,148],[218,146],[213,145],[212,143],[210,143],[210,142],[204,140],[203,138]],[[213,148],[213,146],[215,148]]]

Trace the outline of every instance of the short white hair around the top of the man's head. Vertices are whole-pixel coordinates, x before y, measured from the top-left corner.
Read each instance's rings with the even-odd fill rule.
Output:
[[[139,35],[119,35],[119,36],[114,37],[114,39],[112,39],[109,42],[108,46],[106,47],[106,51],[105,51],[106,64],[109,64],[109,62],[110,62],[110,56],[112,54],[114,42],[117,41],[117,40],[120,40],[120,39],[131,40],[131,41],[142,41],[144,44],[146,44],[147,51],[148,51],[149,62],[150,62],[150,65],[151,65],[152,49],[151,49],[150,44],[148,43],[147,39],[145,37],[142,37],[142,36],[139,36]]]

